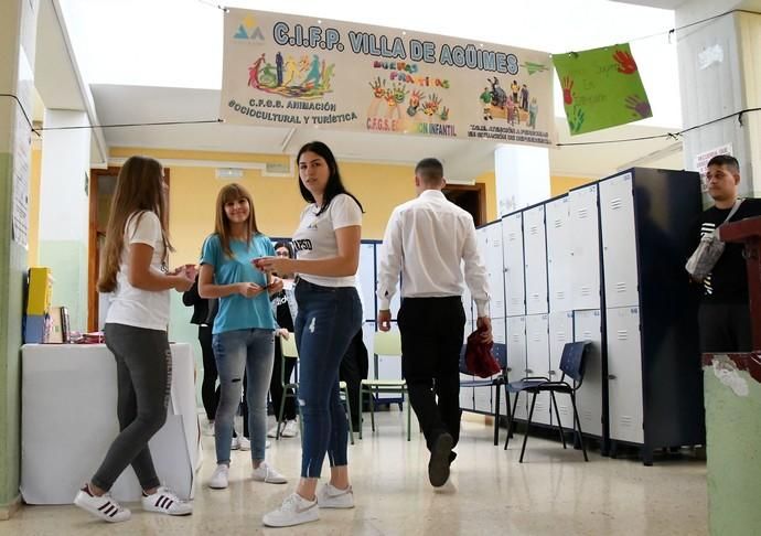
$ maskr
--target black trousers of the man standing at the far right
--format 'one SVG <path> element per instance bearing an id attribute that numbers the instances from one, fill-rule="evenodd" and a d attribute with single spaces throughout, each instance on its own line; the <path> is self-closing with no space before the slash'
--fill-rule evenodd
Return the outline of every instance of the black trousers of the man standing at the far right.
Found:
<path id="1" fill-rule="evenodd" d="M 701 303 L 700 352 L 750 352 L 753 335 L 748 303 Z"/>

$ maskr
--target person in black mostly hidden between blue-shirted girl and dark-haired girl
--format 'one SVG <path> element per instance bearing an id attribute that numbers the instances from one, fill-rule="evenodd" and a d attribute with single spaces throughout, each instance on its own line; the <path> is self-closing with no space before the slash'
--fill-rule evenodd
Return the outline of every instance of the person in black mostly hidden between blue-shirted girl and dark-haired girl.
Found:
<path id="1" fill-rule="evenodd" d="M 293 249 L 287 242 L 278 242 L 275 244 L 275 255 L 278 257 L 293 258 Z M 292 275 L 283 274 L 283 281 L 291 280 Z M 293 296 L 292 287 L 283 288 L 277 294 L 270 296 L 275 319 L 278 324 L 278 330 L 275 332 L 275 364 L 272 366 L 272 378 L 269 384 L 269 395 L 272 399 L 272 409 L 275 418 L 277 419 L 280 411 L 280 404 L 285 396 L 282 388 L 282 377 L 286 383 L 290 380 L 293 368 L 296 367 L 296 360 L 286 361 L 285 376 L 281 377 L 282 369 L 282 339 L 288 339 L 293 333 L 293 319 L 296 318 L 296 298 Z M 285 426 L 280 429 L 280 436 L 283 438 L 296 437 L 299 432 L 299 427 L 296 422 L 296 399 L 292 396 L 286 397 L 285 407 L 282 410 L 282 418 Z M 277 436 L 277 425 L 272 427 L 267 437 L 274 438 Z"/>

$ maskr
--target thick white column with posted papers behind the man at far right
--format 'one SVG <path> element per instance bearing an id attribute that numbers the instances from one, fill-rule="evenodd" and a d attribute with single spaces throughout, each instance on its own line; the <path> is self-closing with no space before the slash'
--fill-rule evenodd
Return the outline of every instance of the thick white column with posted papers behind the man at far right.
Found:
<path id="1" fill-rule="evenodd" d="M 676 10 L 682 26 L 741 8 L 736 0 L 695 0 Z M 677 32 L 682 115 L 685 127 L 701 125 L 746 108 L 761 106 L 761 15 L 732 13 Z M 740 162 L 740 195 L 761 194 L 761 112 L 726 119 L 684 135 L 684 164 L 695 169 L 695 158 L 731 144 Z M 755 171 L 755 172 L 754 172 Z"/>

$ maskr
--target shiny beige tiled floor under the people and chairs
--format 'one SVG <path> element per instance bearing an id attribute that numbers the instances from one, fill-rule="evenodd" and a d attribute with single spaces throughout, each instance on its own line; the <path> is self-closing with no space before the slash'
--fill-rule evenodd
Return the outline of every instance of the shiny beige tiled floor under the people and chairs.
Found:
<path id="1" fill-rule="evenodd" d="M 322 511 L 317 523 L 294 528 L 261 526 L 261 515 L 293 490 L 300 468 L 298 439 L 272 441 L 270 461 L 293 480 L 272 485 L 247 480 L 248 452 L 234 452 L 231 486 L 203 485 L 214 469 L 213 438 L 204 437 L 194 513 L 170 518 L 132 507 L 126 523 L 106 525 L 74 506 L 26 506 L 0 522 L 1 535 L 700 535 L 707 534 L 706 467 L 690 455 L 611 460 L 562 450 L 559 442 L 530 438 L 517 462 L 521 436 L 507 452 L 492 444 L 492 429 L 465 421 L 450 484 L 433 491 L 428 452 L 414 422 L 405 441 L 401 414 L 379 415 L 376 433 L 350 446 L 356 507 Z M 504 440 L 504 430 L 501 436 Z M 323 475 L 326 474 L 326 469 Z"/>

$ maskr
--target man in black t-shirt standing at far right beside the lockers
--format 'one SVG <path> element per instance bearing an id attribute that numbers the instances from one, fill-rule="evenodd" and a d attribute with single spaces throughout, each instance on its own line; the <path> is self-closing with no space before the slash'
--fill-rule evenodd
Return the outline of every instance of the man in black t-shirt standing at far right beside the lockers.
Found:
<path id="1" fill-rule="evenodd" d="M 693 247 L 700 237 L 720 226 L 738 201 L 740 167 L 737 159 L 727 154 L 714 157 L 706 173 L 708 195 L 714 206 L 705 211 L 695 223 Z M 738 222 L 761 216 L 761 200 L 744 199 L 729 219 Z M 748 275 L 743 245 L 727 243 L 711 272 L 703 280 L 703 297 L 698 312 L 700 328 L 700 351 L 749 352 L 752 350 Z"/>

